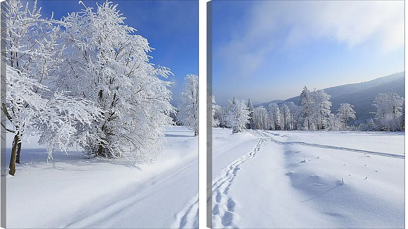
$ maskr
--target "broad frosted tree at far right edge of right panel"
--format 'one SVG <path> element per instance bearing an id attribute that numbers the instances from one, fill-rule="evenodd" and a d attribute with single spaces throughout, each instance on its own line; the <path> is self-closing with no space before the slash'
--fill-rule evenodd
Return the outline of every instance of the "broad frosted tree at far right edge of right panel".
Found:
<path id="1" fill-rule="evenodd" d="M 390 90 L 387 93 L 379 93 L 374 99 L 373 106 L 376 108 L 375 117 L 383 130 L 404 129 L 404 122 L 402 122 L 404 118 L 402 112 L 405 111 L 404 98 Z"/>

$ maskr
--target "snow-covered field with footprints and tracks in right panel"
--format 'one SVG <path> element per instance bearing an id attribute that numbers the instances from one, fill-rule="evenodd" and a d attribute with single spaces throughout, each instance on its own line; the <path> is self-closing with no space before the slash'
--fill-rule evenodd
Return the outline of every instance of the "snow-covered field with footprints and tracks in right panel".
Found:
<path id="1" fill-rule="evenodd" d="M 215 128 L 213 145 L 213 228 L 404 228 L 404 132 Z"/>

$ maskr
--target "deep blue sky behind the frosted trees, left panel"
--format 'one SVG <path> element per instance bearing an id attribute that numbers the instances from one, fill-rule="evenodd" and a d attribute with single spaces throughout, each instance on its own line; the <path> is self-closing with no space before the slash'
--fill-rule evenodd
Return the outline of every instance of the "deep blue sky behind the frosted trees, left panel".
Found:
<path id="1" fill-rule="evenodd" d="M 96 2 L 82 1 L 86 6 L 96 8 Z M 173 105 L 180 101 L 180 93 L 186 74 L 198 75 L 198 1 L 195 0 L 113 0 L 117 9 L 127 17 L 125 23 L 137 29 L 137 34 L 145 37 L 152 48 L 151 63 L 171 69 L 175 76 Z M 44 17 L 60 19 L 68 12 L 78 12 L 83 6 L 78 0 L 39 0 Z"/>

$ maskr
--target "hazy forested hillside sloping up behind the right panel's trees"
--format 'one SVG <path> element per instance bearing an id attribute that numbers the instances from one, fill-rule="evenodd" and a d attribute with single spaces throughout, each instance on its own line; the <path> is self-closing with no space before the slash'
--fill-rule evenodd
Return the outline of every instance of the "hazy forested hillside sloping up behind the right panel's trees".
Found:
<path id="1" fill-rule="evenodd" d="M 356 120 L 365 120 L 367 118 L 374 118 L 374 115 L 370 112 L 375 111 L 375 107 L 373 107 L 372 104 L 378 93 L 388 92 L 390 89 L 394 90 L 399 96 L 405 98 L 405 72 L 398 72 L 361 83 L 329 87 L 325 88 L 324 92 L 331 96 L 332 113 L 337 112 L 340 103 L 349 103 L 355 106 Z M 299 87 L 299 94 L 300 92 L 302 92 L 301 87 Z M 296 105 L 299 105 L 299 96 L 288 98 L 280 103 L 284 102 L 293 102 Z M 261 105 L 268 107 L 270 103 L 274 103 L 274 101 L 259 104 L 256 105 L 256 107 Z"/>

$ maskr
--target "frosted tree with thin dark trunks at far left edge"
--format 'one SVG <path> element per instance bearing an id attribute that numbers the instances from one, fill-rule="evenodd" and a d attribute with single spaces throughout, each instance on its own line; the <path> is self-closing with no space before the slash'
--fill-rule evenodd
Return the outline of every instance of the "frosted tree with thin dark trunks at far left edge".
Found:
<path id="1" fill-rule="evenodd" d="M 43 19 L 34 2 L 28 9 L 20 1 L 6 1 L 2 16 L 6 28 L 2 30 L 2 61 L 6 74 L 2 84 L 2 113 L 11 123 L 2 127 L 14 133 L 9 173 L 16 172 L 20 163 L 22 140 L 31 134 L 40 134 L 41 145 L 48 149 L 49 159 L 53 150 L 67 150 L 75 142 L 93 139 L 95 135 L 83 132 L 101 110 L 89 100 L 67 95 L 52 87 L 57 72 L 64 61 L 64 46 L 58 44 L 60 21 Z M 48 85 L 48 86 L 45 86 Z"/>

